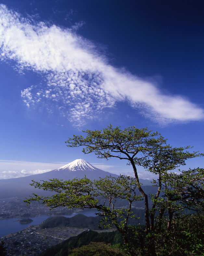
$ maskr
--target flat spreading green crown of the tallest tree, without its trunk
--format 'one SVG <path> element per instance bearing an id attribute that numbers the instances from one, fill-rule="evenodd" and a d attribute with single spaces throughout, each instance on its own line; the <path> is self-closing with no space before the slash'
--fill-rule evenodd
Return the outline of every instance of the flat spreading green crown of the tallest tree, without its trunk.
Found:
<path id="1" fill-rule="evenodd" d="M 146 150 L 145 141 L 158 133 L 152 133 L 147 128 L 137 129 L 134 126 L 121 130 L 120 127 L 113 128 L 112 125 L 100 130 L 86 130 L 87 134 L 84 138 L 82 135 L 73 135 L 65 143 L 67 147 L 85 146 L 82 152 L 88 154 L 94 152 L 98 158 L 117 157 L 119 159 L 128 159 L 121 153 L 126 152 L 132 154 L 133 157 L 141 150 Z M 123 151 L 123 152 L 121 152 Z"/>

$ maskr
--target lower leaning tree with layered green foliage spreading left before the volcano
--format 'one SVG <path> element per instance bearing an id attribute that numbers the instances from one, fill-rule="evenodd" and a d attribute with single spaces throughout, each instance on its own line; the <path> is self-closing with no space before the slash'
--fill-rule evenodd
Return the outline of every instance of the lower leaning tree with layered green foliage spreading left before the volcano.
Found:
<path id="1" fill-rule="evenodd" d="M 34 194 L 34 197 L 25 200 L 27 204 L 32 201 L 41 201 L 51 209 L 59 206 L 66 206 L 70 209 L 95 208 L 98 211 L 97 215 L 103 217 L 100 220 L 100 226 L 110 228 L 114 224 L 124 239 L 128 234 L 129 218 L 135 218 L 131 211 L 132 203 L 141 200 L 141 195 L 135 193 L 137 186 L 135 179 L 124 175 L 117 178 L 110 176 L 94 181 L 86 177 L 68 181 L 53 179 L 44 181 L 42 184 L 33 181 L 31 185 L 35 188 L 55 191 L 57 194 L 52 197 L 40 197 Z M 128 209 L 114 207 L 118 198 L 128 201 Z"/>

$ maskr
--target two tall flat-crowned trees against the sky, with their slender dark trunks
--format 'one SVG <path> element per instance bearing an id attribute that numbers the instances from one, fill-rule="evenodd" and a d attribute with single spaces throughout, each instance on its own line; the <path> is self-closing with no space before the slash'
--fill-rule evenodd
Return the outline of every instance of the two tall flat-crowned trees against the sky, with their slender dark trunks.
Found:
<path id="1" fill-rule="evenodd" d="M 83 153 L 95 153 L 98 158 L 109 159 L 116 157 L 127 160 L 127 164 L 132 165 L 137 188 L 145 200 L 145 219 L 146 232 L 154 230 L 155 213 L 159 211 L 160 219 L 163 217 L 165 209 L 158 209 L 161 202 L 159 195 L 162 189 L 162 182 L 169 171 L 185 165 L 185 161 L 194 157 L 201 157 L 203 154 L 198 152 L 186 151 L 190 146 L 172 147 L 167 145 L 167 139 L 164 139 L 157 132 L 147 130 L 147 128 L 137 129 L 131 126 L 121 130 L 120 127 L 113 128 L 112 125 L 101 130 L 86 130 L 86 137 L 82 135 L 73 135 L 66 143 L 68 147 L 83 146 Z M 149 212 L 148 195 L 142 189 L 139 183 L 136 166 L 143 166 L 146 171 L 159 175 L 155 195 L 151 196 L 154 202 Z M 170 202 L 171 200 L 169 200 Z M 174 206 L 176 203 L 174 204 Z M 170 209 L 170 207 L 169 207 Z M 170 223 L 172 220 L 172 211 L 170 212 Z M 160 224 L 159 224 L 160 225 Z M 159 227 L 160 228 L 160 227 Z"/>

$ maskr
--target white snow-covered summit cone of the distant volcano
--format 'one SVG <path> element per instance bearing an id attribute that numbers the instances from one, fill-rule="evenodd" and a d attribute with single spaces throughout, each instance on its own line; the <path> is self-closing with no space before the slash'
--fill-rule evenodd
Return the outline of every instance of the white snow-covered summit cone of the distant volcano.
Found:
<path id="1" fill-rule="evenodd" d="M 69 172 L 75 172 L 75 171 L 97 171 L 98 168 L 91 165 L 89 162 L 83 160 L 83 159 L 76 159 L 71 163 L 68 163 L 58 169 L 56 171 L 66 170 Z"/>

